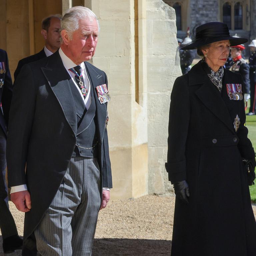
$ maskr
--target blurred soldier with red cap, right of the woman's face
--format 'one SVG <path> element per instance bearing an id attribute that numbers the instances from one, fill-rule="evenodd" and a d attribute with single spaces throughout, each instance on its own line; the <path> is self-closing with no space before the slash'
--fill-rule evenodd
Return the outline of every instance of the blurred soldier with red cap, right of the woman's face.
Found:
<path id="1" fill-rule="evenodd" d="M 250 99 L 250 67 L 245 59 L 242 58 L 244 45 L 236 45 L 231 47 L 231 57 L 233 60 L 231 71 L 241 74 L 244 81 L 244 104 Z"/>

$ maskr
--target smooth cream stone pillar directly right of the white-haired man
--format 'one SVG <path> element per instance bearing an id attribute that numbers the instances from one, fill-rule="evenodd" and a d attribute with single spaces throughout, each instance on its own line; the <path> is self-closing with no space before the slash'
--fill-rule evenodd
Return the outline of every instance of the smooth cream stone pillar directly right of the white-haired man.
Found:
<path id="1" fill-rule="evenodd" d="M 99 18 L 101 31 L 92 63 L 106 72 L 111 95 L 108 104 L 111 197 L 142 196 L 148 193 L 147 101 L 142 99 L 140 105 L 135 100 L 138 56 L 135 56 L 134 1 L 86 0 L 85 6 L 91 7 Z"/>

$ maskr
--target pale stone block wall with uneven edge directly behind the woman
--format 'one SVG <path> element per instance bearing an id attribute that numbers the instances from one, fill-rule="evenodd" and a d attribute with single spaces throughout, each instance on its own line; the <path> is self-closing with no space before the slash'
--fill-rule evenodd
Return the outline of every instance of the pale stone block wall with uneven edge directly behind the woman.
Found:
<path id="1" fill-rule="evenodd" d="M 170 95 L 176 77 L 176 16 L 162 0 L 147 0 L 147 93 L 149 193 L 172 191 L 165 170 Z"/>

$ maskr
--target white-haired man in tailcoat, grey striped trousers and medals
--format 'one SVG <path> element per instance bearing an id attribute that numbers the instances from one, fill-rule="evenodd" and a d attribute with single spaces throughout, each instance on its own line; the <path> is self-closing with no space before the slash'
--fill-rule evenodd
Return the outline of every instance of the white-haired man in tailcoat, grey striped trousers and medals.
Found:
<path id="1" fill-rule="evenodd" d="M 14 87 L 11 200 L 26 212 L 24 246 L 36 240 L 41 255 L 91 255 L 98 211 L 109 200 L 107 77 L 87 62 L 98 34 L 90 9 L 69 9 L 59 51 L 25 65 Z"/>

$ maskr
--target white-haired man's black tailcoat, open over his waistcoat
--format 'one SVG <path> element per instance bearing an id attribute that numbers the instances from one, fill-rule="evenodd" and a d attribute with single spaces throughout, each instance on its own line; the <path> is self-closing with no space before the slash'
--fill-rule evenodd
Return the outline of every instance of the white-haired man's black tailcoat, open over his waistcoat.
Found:
<path id="1" fill-rule="evenodd" d="M 85 62 L 96 101 L 98 163 L 101 186 L 112 188 L 106 129 L 107 103 L 100 104 L 96 87 L 107 84 L 100 69 Z M 9 187 L 27 184 L 32 209 L 25 213 L 24 244 L 49 208 L 75 148 L 77 113 L 59 51 L 24 65 L 18 75 L 10 109 L 7 139 Z M 25 174 L 26 166 L 26 174 Z"/>

